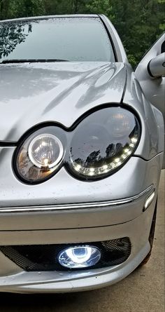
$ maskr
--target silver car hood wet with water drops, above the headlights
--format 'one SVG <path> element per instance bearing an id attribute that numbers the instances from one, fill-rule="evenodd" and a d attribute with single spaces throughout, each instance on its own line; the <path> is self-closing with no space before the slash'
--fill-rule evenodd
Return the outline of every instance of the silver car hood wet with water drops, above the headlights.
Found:
<path id="1" fill-rule="evenodd" d="M 120 103 L 123 63 L 56 62 L 0 66 L 0 140 L 17 141 L 45 121 L 70 127 L 85 111 Z"/>

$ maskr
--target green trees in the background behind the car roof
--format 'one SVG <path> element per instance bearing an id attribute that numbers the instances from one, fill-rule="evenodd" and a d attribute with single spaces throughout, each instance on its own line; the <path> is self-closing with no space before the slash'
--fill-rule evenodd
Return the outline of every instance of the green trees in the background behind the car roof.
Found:
<path id="1" fill-rule="evenodd" d="M 131 65 L 165 30 L 165 0 L 0 0 L 0 19 L 73 13 L 105 14 L 115 25 Z"/>

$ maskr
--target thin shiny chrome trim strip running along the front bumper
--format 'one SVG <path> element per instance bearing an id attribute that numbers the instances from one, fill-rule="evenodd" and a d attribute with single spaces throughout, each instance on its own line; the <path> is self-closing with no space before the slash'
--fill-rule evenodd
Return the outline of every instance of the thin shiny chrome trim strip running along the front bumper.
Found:
<path id="1" fill-rule="evenodd" d="M 101 202 L 92 202 L 92 203 L 74 203 L 74 204 L 61 204 L 61 205 L 41 205 L 41 206 L 29 206 L 29 207 L 10 207 L 10 208 L 0 208 L 1 213 L 12 213 L 12 212 L 45 212 L 45 211 L 55 211 L 55 210 L 71 210 L 71 209 L 85 209 L 85 208 L 101 208 L 109 207 L 113 205 L 123 205 L 125 203 L 132 203 L 133 201 L 138 200 L 143 195 L 155 191 L 154 185 L 150 185 L 147 189 L 141 193 L 119 200 L 113 201 L 101 201 Z"/>

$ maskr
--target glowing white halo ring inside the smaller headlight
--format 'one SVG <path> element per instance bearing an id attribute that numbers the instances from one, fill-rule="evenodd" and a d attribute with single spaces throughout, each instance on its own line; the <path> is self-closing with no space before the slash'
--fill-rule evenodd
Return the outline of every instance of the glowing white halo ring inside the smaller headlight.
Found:
<path id="1" fill-rule="evenodd" d="M 36 161 L 36 159 L 34 158 L 34 156 L 32 154 L 34 143 L 37 140 L 41 140 L 44 137 L 52 138 L 55 141 L 55 143 L 58 144 L 58 146 L 59 146 L 59 156 L 57 157 L 57 159 L 53 163 L 50 163 L 48 165 L 41 165 L 38 161 Z M 43 133 L 41 135 L 37 135 L 36 137 L 34 137 L 34 139 L 30 142 L 29 147 L 28 147 L 28 155 L 29 155 L 31 163 L 36 165 L 36 167 L 38 167 L 38 168 L 50 168 L 51 169 L 51 168 L 54 168 L 56 165 L 58 165 L 60 163 L 60 161 L 62 160 L 63 155 L 64 155 L 64 147 L 62 145 L 62 142 L 55 135 Z"/>

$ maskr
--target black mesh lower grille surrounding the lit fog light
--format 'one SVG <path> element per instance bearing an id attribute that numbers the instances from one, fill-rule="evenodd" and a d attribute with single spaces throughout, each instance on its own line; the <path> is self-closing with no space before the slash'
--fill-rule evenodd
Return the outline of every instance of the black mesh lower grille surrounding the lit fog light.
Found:
<path id="1" fill-rule="evenodd" d="M 127 237 L 96 243 L 0 246 L 0 250 L 24 271 L 70 271 L 59 264 L 57 256 L 66 247 L 80 245 L 96 246 L 101 250 L 101 259 L 90 269 L 121 264 L 131 253 L 131 243 Z"/>

